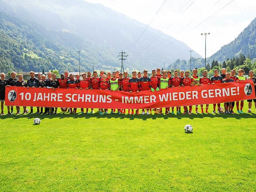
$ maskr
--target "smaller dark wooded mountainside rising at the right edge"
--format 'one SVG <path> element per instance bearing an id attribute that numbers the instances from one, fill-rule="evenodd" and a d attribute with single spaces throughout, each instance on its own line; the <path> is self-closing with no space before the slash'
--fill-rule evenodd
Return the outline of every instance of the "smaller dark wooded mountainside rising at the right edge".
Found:
<path id="1" fill-rule="evenodd" d="M 235 40 L 227 45 L 222 46 L 218 52 L 210 57 L 210 60 L 223 62 L 240 54 L 249 56 L 251 59 L 256 58 L 256 18 L 252 20 Z"/>

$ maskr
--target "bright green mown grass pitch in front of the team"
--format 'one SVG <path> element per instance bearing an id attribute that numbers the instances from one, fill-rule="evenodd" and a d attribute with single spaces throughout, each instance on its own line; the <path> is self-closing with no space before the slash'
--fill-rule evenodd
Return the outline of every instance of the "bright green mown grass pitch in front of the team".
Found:
<path id="1" fill-rule="evenodd" d="M 253 112 L 0 116 L 0 191 L 256 191 Z"/>

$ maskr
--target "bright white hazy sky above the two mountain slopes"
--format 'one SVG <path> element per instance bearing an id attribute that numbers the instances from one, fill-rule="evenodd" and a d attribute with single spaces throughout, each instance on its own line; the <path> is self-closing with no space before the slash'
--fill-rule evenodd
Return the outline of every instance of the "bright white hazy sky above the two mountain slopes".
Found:
<path id="1" fill-rule="evenodd" d="M 256 0 L 86 1 L 103 4 L 144 24 L 151 22 L 151 27 L 184 42 L 203 58 L 205 36 L 201 33 L 210 32 L 206 37 L 208 57 L 234 40 L 256 16 Z"/>

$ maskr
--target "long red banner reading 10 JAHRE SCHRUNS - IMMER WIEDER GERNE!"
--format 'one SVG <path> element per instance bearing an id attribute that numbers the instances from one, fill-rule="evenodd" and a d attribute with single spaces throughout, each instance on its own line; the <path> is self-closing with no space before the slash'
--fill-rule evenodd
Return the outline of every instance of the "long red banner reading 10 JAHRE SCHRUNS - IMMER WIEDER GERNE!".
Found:
<path id="1" fill-rule="evenodd" d="M 175 87 L 154 91 L 112 92 L 110 90 L 6 87 L 7 106 L 70 108 L 162 108 L 254 99 L 252 80 L 215 85 Z"/>

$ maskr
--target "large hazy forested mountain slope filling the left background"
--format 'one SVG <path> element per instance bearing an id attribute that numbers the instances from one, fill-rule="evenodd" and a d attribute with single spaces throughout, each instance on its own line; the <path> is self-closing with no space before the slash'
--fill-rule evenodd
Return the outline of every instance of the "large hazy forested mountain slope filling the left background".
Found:
<path id="1" fill-rule="evenodd" d="M 151 70 L 164 61 L 189 59 L 192 49 L 167 34 L 144 50 L 160 34 L 148 27 L 137 41 L 145 28 L 124 14 L 84 0 L 0 0 L 0 70 L 78 71 L 78 50 L 81 71 L 92 70 L 93 65 L 105 70 L 120 67 L 121 50 L 129 55 L 125 70 Z"/>

